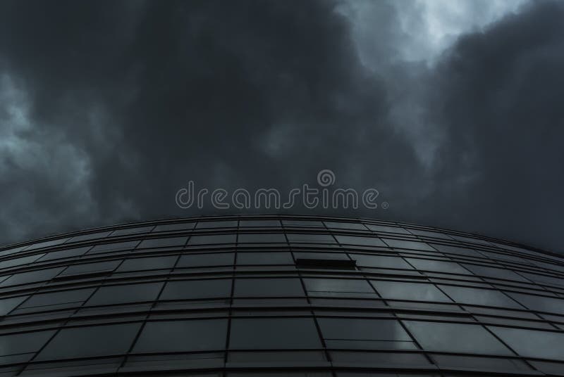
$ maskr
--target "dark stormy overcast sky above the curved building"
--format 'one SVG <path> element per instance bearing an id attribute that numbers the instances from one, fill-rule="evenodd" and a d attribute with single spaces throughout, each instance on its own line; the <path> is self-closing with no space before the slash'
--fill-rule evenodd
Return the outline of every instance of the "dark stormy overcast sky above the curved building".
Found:
<path id="1" fill-rule="evenodd" d="M 3 0 L 0 243 L 329 169 L 389 208 L 285 212 L 560 251 L 563 68 L 563 1 Z"/>

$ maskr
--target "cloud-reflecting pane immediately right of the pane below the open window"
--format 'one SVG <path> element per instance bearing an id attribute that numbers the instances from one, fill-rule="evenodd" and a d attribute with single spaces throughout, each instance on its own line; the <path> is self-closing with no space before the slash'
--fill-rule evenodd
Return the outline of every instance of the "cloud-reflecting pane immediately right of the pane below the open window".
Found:
<path id="1" fill-rule="evenodd" d="M 429 283 L 408 283 L 406 281 L 372 280 L 376 291 L 383 298 L 394 300 L 451 302 L 436 286 Z"/>

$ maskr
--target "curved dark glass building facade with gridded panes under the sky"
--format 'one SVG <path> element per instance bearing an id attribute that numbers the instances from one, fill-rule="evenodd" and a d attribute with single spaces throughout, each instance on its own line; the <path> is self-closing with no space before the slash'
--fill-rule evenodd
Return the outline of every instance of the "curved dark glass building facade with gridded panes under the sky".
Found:
<path id="1" fill-rule="evenodd" d="M 91 229 L 0 249 L 0 376 L 564 376 L 563 276 L 369 219 Z"/>

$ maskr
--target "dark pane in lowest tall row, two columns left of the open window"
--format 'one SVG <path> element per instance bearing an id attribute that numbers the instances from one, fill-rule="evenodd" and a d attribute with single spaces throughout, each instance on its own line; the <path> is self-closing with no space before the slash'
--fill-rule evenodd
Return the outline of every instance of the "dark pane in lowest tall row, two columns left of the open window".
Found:
<path id="1" fill-rule="evenodd" d="M 133 352 L 188 352 L 223 350 L 227 319 L 147 322 Z"/>

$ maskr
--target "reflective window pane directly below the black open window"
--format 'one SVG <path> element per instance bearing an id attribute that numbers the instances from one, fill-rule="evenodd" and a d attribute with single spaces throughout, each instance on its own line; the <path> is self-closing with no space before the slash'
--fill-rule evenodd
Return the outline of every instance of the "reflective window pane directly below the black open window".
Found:
<path id="1" fill-rule="evenodd" d="M 376 298 L 374 289 L 366 280 L 353 279 L 304 279 L 308 295 L 339 295 Z"/>

